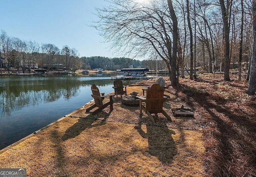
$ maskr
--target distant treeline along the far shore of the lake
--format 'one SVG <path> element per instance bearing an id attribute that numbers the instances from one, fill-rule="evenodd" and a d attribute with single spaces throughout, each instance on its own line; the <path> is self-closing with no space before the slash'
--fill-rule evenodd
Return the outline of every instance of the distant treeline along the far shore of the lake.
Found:
<path id="1" fill-rule="evenodd" d="M 164 62 L 155 60 L 132 60 L 130 58 L 107 58 L 102 56 L 78 57 L 78 50 L 65 45 L 58 48 L 54 44 L 39 44 L 36 41 L 20 40 L 10 37 L 4 30 L 0 30 L 0 73 L 2 68 L 9 72 L 13 69 L 27 72 L 32 69 L 51 70 L 88 70 L 102 68 L 104 70 L 117 70 L 141 66 L 155 70 L 166 68 Z M 15 71 L 15 70 L 14 70 Z"/>

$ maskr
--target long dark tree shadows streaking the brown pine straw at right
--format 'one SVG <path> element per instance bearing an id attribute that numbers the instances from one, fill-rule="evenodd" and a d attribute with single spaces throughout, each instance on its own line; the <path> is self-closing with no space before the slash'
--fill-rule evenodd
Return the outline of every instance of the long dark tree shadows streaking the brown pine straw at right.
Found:
<path id="1" fill-rule="evenodd" d="M 209 125 L 204 130 L 204 137 L 207 139 L 206 156 L 207 159 L 213 159 L 206 159 L 208 173 L 225 177 L 255 174 L 255 121 L 229 107 L 227 100 L 221 95 L 211 95 L 186 85 L 175 89 L 177 95 L 179 92 L 186 94 L 183 99 L 188 104 L 192 102 L 190 105 L 193 108 L 196 105 L 204 107 L 202 114 L 205 114 Z M 252 117 L 255 113 L 250 115 Z"/>

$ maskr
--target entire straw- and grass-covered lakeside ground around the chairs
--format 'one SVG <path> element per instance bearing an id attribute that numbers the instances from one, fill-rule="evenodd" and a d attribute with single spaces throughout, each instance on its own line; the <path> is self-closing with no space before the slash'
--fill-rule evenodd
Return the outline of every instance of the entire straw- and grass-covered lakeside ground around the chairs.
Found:
<path id="1" fill-rule="evenodd" d="M 128 93 L 155 80 L 132 84 Z M 256 97 L 247 83 L 223 76 L 166 80 L 170 98 L 156 123 L 138 107 L 114 98 L 114 110 L 85 113 L 86 105 L 0 153 L 0 168 L 26 168 L 28 176 L 255 176 Z M 174 117 L 171 108 L 194 111 Z M 92 110 L 93 111 L 93 110 Z"/>

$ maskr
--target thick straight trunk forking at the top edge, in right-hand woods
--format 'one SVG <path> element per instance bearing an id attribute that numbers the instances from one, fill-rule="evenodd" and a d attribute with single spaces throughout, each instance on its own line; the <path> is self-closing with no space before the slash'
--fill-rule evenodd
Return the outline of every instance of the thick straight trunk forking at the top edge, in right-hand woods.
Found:
<path id="1" fill-rule="evenodd" d="M 224 39 L 225 39 L 224 80 L 225 81 L 230 81 L 230 77 L 229 77 L 229 69 L 230 69 L 229 33 L 230 33 L 230 26 L 229 26 L 229 22 L 228 22 L 230 4 L 229 4 L 229 1 L 228 1 L 227 2 L 228 5 L 227 5 L 227 8 L 226 8 L 224 0 L 219 0 L 219 1 L 220 1 L 221 12 L 222 12 L 222 20 L 223 20 L 223 27 L 224 27 Z"/>

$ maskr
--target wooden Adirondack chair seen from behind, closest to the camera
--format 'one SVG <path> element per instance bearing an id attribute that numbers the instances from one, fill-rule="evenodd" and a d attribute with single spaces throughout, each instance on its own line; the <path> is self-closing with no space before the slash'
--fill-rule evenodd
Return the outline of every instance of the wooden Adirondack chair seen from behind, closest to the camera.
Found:
<path id="1" fill-rule="evenodd" d="M 164 88 L 159 84 L 153 84 L 151 88 L 146 90 L 146 98 L 140 97 L 140 115 L 142 115 L 142 109 L 146 112 L 148 117 L 155 122 L 152 113 L 162 113 L 168 120 L 172 121 L 171 117 L 163 110 L 163 103 L 167 99 L 164 97 Z"/>

